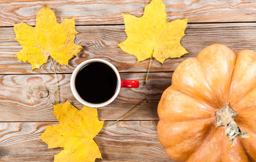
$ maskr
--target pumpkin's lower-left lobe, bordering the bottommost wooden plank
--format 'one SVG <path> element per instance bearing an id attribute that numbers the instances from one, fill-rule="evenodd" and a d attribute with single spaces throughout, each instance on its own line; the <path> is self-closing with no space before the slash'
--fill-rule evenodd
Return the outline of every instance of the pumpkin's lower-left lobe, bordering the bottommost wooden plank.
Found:
<path id="1" fill-rule="evenodd" d="M 164 121 L 160 119 L 160 125 L 158 125 L 158 137 L 159 140 L 164 147 L 164 150 L 168 155 L 172 157 L 172 159 L 176 161 L 185 161 L 187 156 L 196 152 L 198 147 L 201 146 L 204 139 L 207 137 L 208 132 L 211 132 L 214 128 L 217 129 L 214 125 L 214 119 L 212 120 L 204 120 L 204 121 L 191 121 L 191 126 L 196 130 L 192 131 L 191 134 L 186 133 L 191 129 L 191 126 L 186 124 L 187 122 L 181 123 L 170 123 L 169 121 Z M 168 124 L 168 131 L 164 131 Z M 196 126 L 194 125 L 196 124 Z M 173 131 L 176 130 L 177 131 Z M 163 132 L 164 131 L 164 132 Z M 179 132 L 179 133 L 178 133 Z M 163 136 L 163 134 L 168 134 L 168 136 Z M 182 133 L 182 134 L 180 134 Z M 181 138 L 181 136 L 183 136 Z M 168 140 L 173 140 L 172 143 L 168 143 Z M 193 145 L 187 149 L 182 149 L 182 145 L 192 144 L 190 141 L 193 140 Z"/>

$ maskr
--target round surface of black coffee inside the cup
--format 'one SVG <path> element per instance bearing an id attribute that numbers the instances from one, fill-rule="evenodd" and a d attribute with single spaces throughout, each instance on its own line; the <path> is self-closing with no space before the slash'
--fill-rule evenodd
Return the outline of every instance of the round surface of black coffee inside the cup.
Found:
<path id="1" fill-rule="evenodd" d="M 105 63 L 88 63 L 77 73 L 75 88 L 84 101 L 104 103 L 115 94 L 117 76 Z"/>

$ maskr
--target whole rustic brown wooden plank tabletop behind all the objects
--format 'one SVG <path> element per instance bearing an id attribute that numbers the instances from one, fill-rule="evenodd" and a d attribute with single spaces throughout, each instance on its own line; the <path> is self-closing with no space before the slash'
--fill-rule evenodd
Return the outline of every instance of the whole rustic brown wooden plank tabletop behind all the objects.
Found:
<path id="1" fill-rule="evenodd" d="M 162 65 L 149 60 L 136 63 L 136 57 L 118 46 L 126 39 L 122 12 L 142 16 L 150 0 L 0 0 L 0 161 L 54 161 L 61 148 L 48 149 L 38 137 L 45 126 L 58 124 L 52 114 L 56 91 L 50 61 L 31 72 L 29 63 L 14 55 L 22 49 L 14 40 L 13 23 L 35 26 L 35 13 L 43 5 L 54 10 L 58 22 L 73 18 L 75 43 L 84 47 L 69 61 L 55 63 L 59 81 L 59 100 L 82 105 L 71 94 L 69 80 L 74 68 L 91 58 L 111 61 L 123 79 L 139 80 L 139 88 L 122 89 L 107 107 L 98 108 L 100 120 L 110 124 L 125 113 L 149 102 L 124 120 L 100 131 L 95 137 L 103 161 L 171 161 L 156 134 L 157 107 L 162 92 L 171 84 L 172 72 L 184 59 L 196 57 L 206 46 L 221 43 L 234 51 L 256 47 L 256 1 L 246 0 L 164 0 L 168 20 L 189 18 L 181 44 L 189 53 L 167 59 Z M 100 161 L 100 160 L 98 160 Z"/>

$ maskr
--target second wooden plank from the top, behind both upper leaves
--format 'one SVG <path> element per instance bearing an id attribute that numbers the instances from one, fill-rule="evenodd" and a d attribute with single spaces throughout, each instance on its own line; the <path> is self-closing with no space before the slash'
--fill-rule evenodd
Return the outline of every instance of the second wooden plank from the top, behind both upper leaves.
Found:
<path id="1" fill-rule="evenodd" d="M 77 26 L 79 34 L 75 43 L 84 50 L 69 61 L 69 67 L 55 63 L 58 73 L 71 73 L 75 67 L 91 58 L 110 61 L 120 72 L 147 72 L 149 59 L 136 63 L 136 57 L 124 53 L 118 43 L 126 39 L 124 26 Z M 0 28 L 0 74 L 38 74 L 53 73 L 52 63 L 48 60 L 39 70 L 31 72 L 31 65 L 17 61 L 14 55 L 22 49 L 14 40 L 13 28 Z M 186 36 L 181 44 L 189 53 L 177 59 L 166 59 L 164 64 L 153 59 L 150 71 L 170 72 L 184 59 L 196 57 L 204 47 L 221 43 L 233 50 L 253 49 L 256 44 L 255 23 L 232 24 L 188 24 Z"/>

